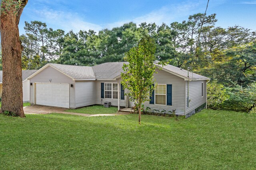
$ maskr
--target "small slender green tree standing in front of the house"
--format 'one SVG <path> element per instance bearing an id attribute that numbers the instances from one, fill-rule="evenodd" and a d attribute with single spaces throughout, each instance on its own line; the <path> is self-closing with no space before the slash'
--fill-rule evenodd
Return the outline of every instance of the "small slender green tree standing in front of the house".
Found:
<path id="1" fill-rule="evenodd" d="M 126 53 L 129 64 L 124 64 L 124 73 L 121 73 L 121 83 L 129 91 L 126 95 L 130 96 L 130 99 L 138 107 L 139 124 L 142 103 L 149 101 L 149 97 L 154 90 L 152 84 L 155 82 L 153 74 L 156 72 L 156 65 L 154 65 L 155 52 L 154 40 L 150 37 L 142 38 L 138 47 L 133 47 Z"/>

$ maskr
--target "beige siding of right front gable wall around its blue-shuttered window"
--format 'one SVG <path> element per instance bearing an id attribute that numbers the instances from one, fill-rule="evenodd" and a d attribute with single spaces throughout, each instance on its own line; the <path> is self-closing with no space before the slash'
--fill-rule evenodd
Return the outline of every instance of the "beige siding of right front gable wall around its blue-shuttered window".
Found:
<path id="1" fill-rule="evenodd" d="M 184 79 L 168 73 L 164 70 L 156 70 L 158 73 L 154 74 L 154 78 L 158 84 L 172 84 L 172 106 L 169 105 L 156 105 L 145 102 L 144 106 L 151 109 L 158 109 L 172 111 L 176 109 L 176 114 L 184 115 Z"/>

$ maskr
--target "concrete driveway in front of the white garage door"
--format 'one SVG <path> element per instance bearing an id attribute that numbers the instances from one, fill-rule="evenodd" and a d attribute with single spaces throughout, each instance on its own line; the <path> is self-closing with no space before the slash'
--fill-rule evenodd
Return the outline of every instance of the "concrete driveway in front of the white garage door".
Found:
<path id="1" fill-rule="evenodd" d="M 23 107 L 24 113 L 38 113 L 38 114 L 48 114 L 48 113 L 59 113 L 66 109 L 58 108 L 58 107 L 47 107 L 47 106 L 26 106 Z"/>

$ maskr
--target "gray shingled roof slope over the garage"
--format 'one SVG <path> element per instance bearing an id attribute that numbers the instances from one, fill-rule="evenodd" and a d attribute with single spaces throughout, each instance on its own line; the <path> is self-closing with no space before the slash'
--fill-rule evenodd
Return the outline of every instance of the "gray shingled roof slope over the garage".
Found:
<path id="1" fill-rule="evenodd" d="M 92 70 L 92 67 L 90 66 L 75 66 L 75 65 L 53 64 L 53 63 L 49 63 L 49 64 L 76 80 L 77 79 L 95 79 L 94 72 Z"/>

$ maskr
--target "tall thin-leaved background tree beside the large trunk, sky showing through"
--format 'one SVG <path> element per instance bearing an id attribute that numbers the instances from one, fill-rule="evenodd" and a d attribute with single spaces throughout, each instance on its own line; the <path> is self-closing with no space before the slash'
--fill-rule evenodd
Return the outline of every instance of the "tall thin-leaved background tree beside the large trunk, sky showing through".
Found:
<path id="1" fill-rule="evenodd" d="M 53 30 L 41 21 L 25 21 L 24 29 L 26 34 L 20 36 L 24 46 L 23 69 L 39 69 L 62 55 L 65 35 L 62 29 Z"/>

